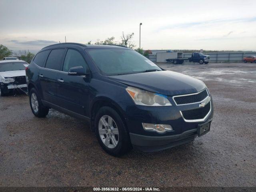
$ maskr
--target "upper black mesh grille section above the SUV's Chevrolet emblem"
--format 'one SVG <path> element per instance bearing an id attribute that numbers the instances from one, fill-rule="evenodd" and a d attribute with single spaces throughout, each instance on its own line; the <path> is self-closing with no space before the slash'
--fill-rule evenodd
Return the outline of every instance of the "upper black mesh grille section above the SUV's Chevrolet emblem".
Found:
<path id="1" fill-rule="evenodd" d="M 198 94 L 174 97 L 174 101 L 177 105 L 196 103 L 204 100 L 208 96 L 206 89 Z"/>

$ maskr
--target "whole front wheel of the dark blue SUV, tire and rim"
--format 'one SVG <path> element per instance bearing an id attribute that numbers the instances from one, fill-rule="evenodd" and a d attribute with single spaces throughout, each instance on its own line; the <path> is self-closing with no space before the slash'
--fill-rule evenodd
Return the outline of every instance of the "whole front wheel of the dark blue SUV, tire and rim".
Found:
<path id="1" fill-rule="evenodd" d="M 112 108 L 100 108 L 95 117 L 95 132 L 100 146 L 112 156 L 121 156 L 132 149 L 129 132 Z"/>

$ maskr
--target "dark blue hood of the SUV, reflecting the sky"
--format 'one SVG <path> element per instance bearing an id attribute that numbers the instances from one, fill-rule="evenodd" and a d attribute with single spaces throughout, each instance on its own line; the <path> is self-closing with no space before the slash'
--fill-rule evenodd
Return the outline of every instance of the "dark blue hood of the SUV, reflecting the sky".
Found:
<path id="1" fill-rule="evenodd" d="M 202 81 L 173 71 L 156 71 L 109 76 L 110 79 L 167 96 L 196 93 L 205 88 Z"/>

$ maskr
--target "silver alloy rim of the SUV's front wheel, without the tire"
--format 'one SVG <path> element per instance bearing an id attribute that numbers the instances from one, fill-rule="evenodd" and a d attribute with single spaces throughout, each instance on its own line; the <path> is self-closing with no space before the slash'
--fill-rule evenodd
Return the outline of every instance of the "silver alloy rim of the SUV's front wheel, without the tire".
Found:
<path id="1" fill-rule="evenodd" d="M 119 132 L 116 122 L 109 115 L 100 118 L 98 124 L 100 139 L 108 148 L 115 148 L 119 141 Z"/>

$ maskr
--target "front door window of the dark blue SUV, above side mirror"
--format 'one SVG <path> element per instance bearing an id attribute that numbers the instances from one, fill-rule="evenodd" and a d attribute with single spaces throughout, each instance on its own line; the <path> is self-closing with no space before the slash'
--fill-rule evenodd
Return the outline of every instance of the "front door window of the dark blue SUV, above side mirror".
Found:
<path id="1" fill-rule="evenodd" d="M 83 66 L 84 72 L 89 72 L 83 56 L 78 51 L 69 49 L 64 60 L 63 71 L 68 72 L 70 68 L 77 66 Z"/>

